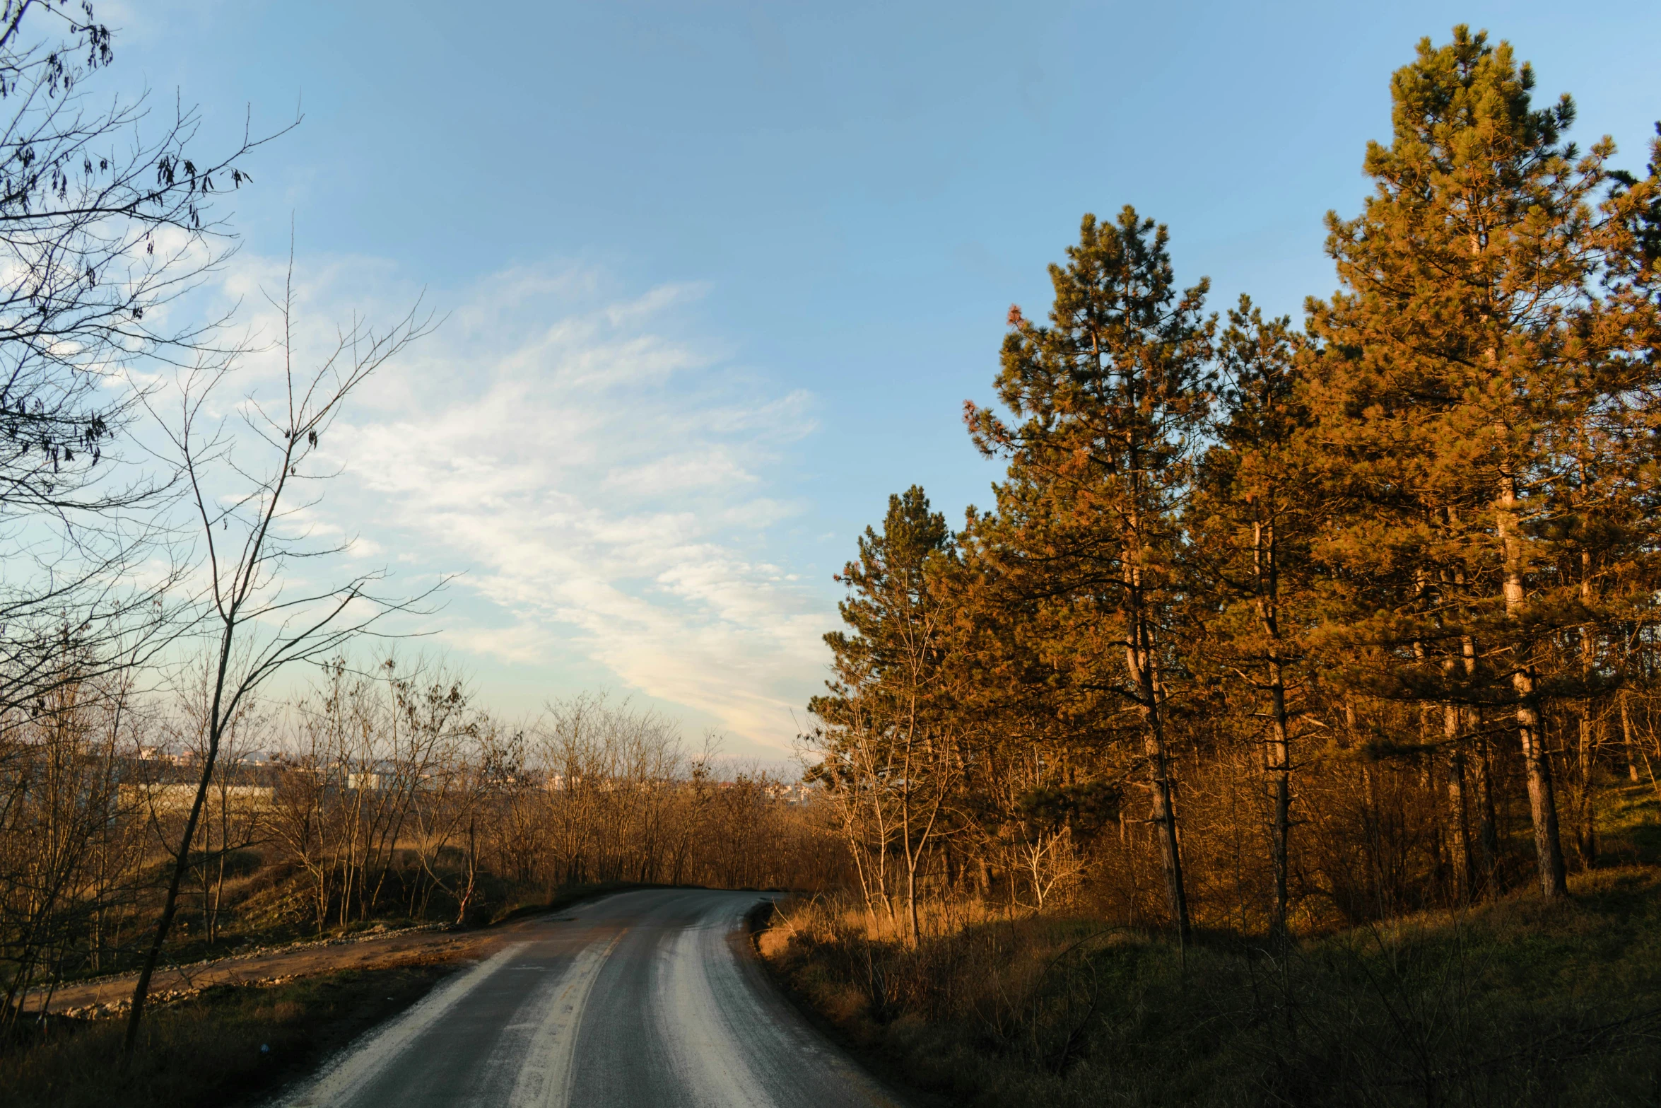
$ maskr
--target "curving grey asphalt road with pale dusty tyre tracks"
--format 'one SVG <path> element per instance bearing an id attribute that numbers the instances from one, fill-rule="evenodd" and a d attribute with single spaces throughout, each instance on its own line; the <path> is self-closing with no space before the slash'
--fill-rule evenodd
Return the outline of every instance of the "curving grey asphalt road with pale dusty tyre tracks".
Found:
<path id="1" fill-rule="evenodd" d="M 742 929 L 761 899 L 623 892 L 523 927 L 277 1105 L 894 1105 L 766 978 Z"/>

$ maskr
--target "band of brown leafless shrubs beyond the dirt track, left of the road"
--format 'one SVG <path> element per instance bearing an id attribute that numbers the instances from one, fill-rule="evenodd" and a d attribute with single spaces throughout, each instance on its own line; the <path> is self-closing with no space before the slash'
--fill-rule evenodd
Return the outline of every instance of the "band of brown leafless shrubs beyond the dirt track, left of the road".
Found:
<path id="1" fill-rule="evenodd" d="M 47 1038 L 65 1027 L 42 1017 L 63 1010 L 55 993 L 141 965 L 199 772 L 189 741 L 135 748 L 81 731 L 83 719 L 58 711 L 0 746 L 20 779 L 37 774 L 0 822 L 5 1025 L 50 1023 Z M 337 664 L 282 721 L 257 733 L 279 757 L 243 756 L 251 723 L 228 733 L 163 968 L 482 927 L 623 887 L 829 887 L 845 865 L 799 787 L 689 756 L 668 723 L 603 698 L 550 704 L 503 733 L 457 684 Z M 40 874 L 50 884 L 28 880 Z M 13 1065 L 0 1045 L 0 1078 Z"/>

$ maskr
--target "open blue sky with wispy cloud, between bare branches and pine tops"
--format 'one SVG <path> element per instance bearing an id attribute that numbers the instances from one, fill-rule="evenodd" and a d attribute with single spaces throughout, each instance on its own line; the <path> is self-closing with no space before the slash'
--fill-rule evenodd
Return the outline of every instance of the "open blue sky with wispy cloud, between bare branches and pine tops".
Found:
<path id="1" fill-rule="evenodd" d="M 1297 314 L 1422 35 L 1512 40 L 1624 164 L 1661 118 L 1648 3 L 98 13 L 111 83 L 201 105 L 204 146 L 304 110 L 228 208 L 223 294 L 269 286 L 292 219 L 312 324 L 422 289 L 448 316 L 337 435 L 331 525 L 463 573 L 437 643 L 505 713 L 608 686 L 736 754 L 789 746 L 887 495 L 988 500 L 960 405 L 1081 213 L 1131 203 L 1214 307 Z"/>

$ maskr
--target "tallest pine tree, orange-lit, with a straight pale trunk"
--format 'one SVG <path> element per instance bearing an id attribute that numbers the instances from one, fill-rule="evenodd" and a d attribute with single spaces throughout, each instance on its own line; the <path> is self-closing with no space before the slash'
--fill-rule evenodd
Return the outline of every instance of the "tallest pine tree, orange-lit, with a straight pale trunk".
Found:
<path id="1" fill-rule="evenodd" d="M 1540 887 L 1560 895 L 1540 650 L 1575 616 L 1540 573 L 1536 528 L 1565 480 L 1553 429 L 1585 405 L 1596 359 L 1576 311 L 1600 267 L 1590 203 L 1610 146 L 1581 158 L 1561 143 L 1573 103 L 1536 110 L 1533 83 L 1507 43 L 1465 27 L 1418 45 L 1392 78 L 1394 140 L 1367 148 L 1374 194 L 1359 218 L 1327 218 L 1342 289 L 1309 312 L 1322 434 L 1355 503 L 1387 508 L 1335 553 L 1375 566 L 1369 545 L 1390 550 L 1415 576 L 1414 681 L 1432 689 L 1443 671 L 1428 648 L 1475 640 L 1508 684 Z"/>

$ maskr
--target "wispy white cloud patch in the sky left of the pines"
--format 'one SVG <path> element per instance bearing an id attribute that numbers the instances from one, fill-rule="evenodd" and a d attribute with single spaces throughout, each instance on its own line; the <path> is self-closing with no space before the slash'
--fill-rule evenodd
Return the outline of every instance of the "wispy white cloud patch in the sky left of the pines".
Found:
<path id="1" fill-rule="evenodd" d="M 395 292 L 374 262 L 302 269 L 314 326 Z M 332 429 L 345 478 L 317 512 L 400 575 L 460 571 L 443 640 L 480 666 L 576 651 L 784 748 L 830 618 L 767 553 L 802 512 L 779 472 L 814 399 L 691 337 L 701 296 L 608 297 L 586 271 L 475 286 Z"/>

